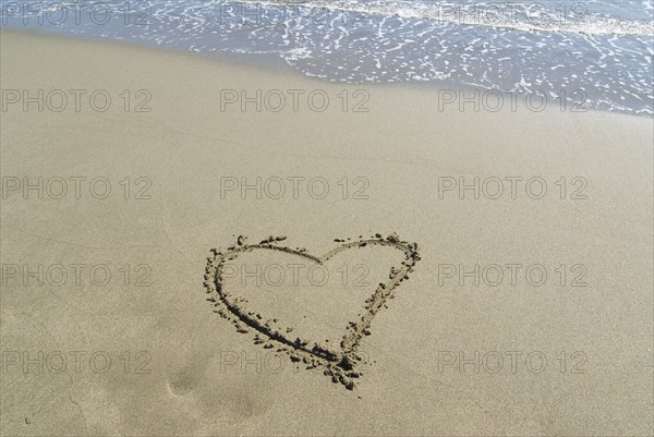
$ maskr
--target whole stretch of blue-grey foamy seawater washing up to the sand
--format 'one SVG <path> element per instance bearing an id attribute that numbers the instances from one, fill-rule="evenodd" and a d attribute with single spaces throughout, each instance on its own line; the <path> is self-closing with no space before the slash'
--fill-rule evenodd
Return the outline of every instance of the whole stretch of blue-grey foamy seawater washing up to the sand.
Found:
<path id="1" fill-rule="evenodd" d="M 569 23 L 547 19 L 561 13 L 565 3 L 558 0 L 538 23 L 533 15 L 521 17 L 516 4 L 532 4 L 524 2 L 138 1 L 129 16 L 104 25 L 86 21 L 39 25 L 39 31 L 204 54 L 276 56 L 329 82 L 436 82 L 554 98 L 576 95 L 588 108 L 652 114 L 654 33 L 652 23 L 633 20 L 651 15 L 649 1 L 632 9 L 591 1 L 574 10 L 580 3 L 569 3 L 566 13 L 574 17 Z M 117 11 L 126 4 L 104 3 Z M 452 4 L 458 11 L 444 9 Z M 485 16 L 480 8 L 498 4 L 512 4 L 513 12 L 505 21 L 496 13 L 495 23 L 480 23 Z M 9 22 L 24 25 L 15 14 Z"/>

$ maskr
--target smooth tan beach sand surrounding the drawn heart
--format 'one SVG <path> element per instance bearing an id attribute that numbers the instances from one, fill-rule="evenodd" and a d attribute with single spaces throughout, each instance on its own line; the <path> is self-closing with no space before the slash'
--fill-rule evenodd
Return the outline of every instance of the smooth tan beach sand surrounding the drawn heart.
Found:
<path id="1" fill-rule="evenodd" d="M 60 94 L 50 94 L 39 112 L 3 92 L 2 435 L 652 434 L 651 119 L 439 111 L 432 86 L 330 84 L 7 31 L 0 48 L 3 90 L 69 96 L 56 112 Z M 87 92 L 80 111 L 71 89 Z M 221 108 L 221 90 L 234 96 L 225 89 L 304 94 L 296 111 L 287 99 L 257 112 Z M 96 109 L 94 90 L 105 90 Z M 315 105 L 329 97 L 325 111 L 308 106 L 313 90 Z M 104 95 L 112 102 L 100 112 Z M 368 111 L 354 112 L 358 102 Z M 25 177 L 43 187 L 26 190 Z M 481 178 L 479 199 L 444 191 L 461 177 Z M 261 178 L 261 198 L 241 193 L 242 178 Z M 491 198 L 493 178 L 522 178 L 516 198 L 508 189 Z M 543 181 L 547 193 L 532 198 Z M 207 301 L 210 250 L 239 235 L 254 245 L 284 235 L 272 244 L 319 258 L 343 244 L 335 239 L 393 232 L 421 259 L 362 336 L 353 390 L 278 343 L 255 344 L 256 329 L 238 332 Z M 308 319 L 301 339 L 320 326 L 346 333 L 343 320 L 356 321 L 389 266 L 401 266 L 371 246 L 332 258 L 352 277 L 370 267 L 365 291 L 278 288 L 256 311 Z M 268 252 L 251 262 L 308 259 Z M 513 283 L 507 265 L 522 266 Z M 238 277 L 225 286 L 252 293 Z"/>

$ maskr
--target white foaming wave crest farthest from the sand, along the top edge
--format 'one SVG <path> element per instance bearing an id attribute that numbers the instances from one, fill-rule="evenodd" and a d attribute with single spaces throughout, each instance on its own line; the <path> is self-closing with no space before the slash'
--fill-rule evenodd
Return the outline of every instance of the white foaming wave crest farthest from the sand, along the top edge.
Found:
<path id="1" fill-rule="evenodd" d="M 12 4 L 17 2 L 0 1 L 0 4 Z M 113 4 L 124 5 L 124 1 L 26 1 L 21 3 L 21 13 L 27 16 L 41 13 L 43 10 L 56 12 L 62 8 L 77 8 L 81 4 Z M 295 9 L 298 15 L 319 16 L 325 11 L 329 13 L 341 13 L 342 16 L 352 14 L 366 14 L 378 16 L 399 16 L 403 19 L 426 20 L 436 24 L 459 24 L 470 26 L 486 26 L 501 29 L 513 29 L 520 32 L 567 32 L 589 35 L 634 35 L 653 36 L 654 17 L 652 15 L 652 3 L 644 0 L 639 15 L 645 15 L 644 20 L 627 20 L 613 16 L 619 14 L 620 9 L 607 8 L 603 2 L 565 2 L 565 1 L 407 1 L 407 0 L 239 0 L 239 1 L 135 1 L 153 13 L 165 14 L 167 11 L 177 11 L 180 4 L 185 4 L 194 10 L 202 10 L 205 15 L 216 15 L 225 10 L 225 7 L 238 8 L 239 4 L 246 8 L 286 10 Z M 5 8 L 3 12 L 7 13 Z M 252 9 L 247 10 L 252 13 Z M 288 12 L 288 11 L 287 11 Z"/>

